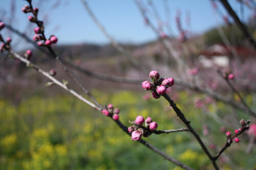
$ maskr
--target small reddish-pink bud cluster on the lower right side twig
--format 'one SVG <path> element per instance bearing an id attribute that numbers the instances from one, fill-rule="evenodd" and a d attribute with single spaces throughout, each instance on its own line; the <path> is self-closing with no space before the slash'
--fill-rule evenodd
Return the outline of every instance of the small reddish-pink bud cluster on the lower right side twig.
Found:
<path id="1" fill-rule="evenodd" d="M 250 120 L 245 121 L 244 119 L 240 120 L 241 128 L 234 130 L 234 136 L 230 131 L 226 132 L 227 142 L 230 144 L 232 141 L 238 143 L 240 140 L 238 138 L 244 131 L 249 129 Z"/>

